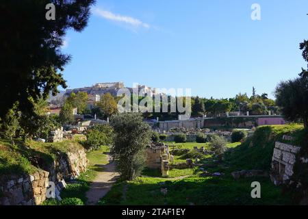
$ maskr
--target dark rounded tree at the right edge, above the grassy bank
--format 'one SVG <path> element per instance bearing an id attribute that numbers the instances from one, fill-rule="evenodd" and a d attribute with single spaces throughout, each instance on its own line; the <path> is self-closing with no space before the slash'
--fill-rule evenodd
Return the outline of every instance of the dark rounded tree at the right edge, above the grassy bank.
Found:
<path id="1" fill-rule="evenodd" d="M 308 78 L 297 77 L 279 83 L 275 92 L 276 103 L 283 116 L 290 121 L 302 120 L 308 127 Z"/>

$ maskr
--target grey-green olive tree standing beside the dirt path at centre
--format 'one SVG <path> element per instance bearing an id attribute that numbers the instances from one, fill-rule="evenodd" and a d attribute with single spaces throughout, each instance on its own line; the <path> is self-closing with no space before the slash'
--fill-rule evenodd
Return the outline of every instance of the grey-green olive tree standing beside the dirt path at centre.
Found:
<path id="1" fill-rule="evenodd" d="M 151 127 L 142 122 L 142 115 L 123 113 L 111 118 L 115 140 L 112 156 L 118 159 L 117 169 L 123 179 L 135 179 L 144 168 L 145 149 L 151 142 Z"/>

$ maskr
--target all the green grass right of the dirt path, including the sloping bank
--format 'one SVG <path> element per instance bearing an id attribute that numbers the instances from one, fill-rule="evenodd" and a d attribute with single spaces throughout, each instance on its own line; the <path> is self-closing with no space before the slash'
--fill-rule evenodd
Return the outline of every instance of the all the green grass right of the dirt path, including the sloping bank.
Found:
<path id="1" fill-rule="evenodd" d="M 240 144 L 228 143 L 229 150 L 223 161 L 208 155 L 201 159 L 199 166 L 169 171 L 163 178 L 159 170 L 144 170 L 142 177 L 133 181 L 119 181 L 101 199 L 100 205 L 290 205 L 290 193 L 282 193 L 269 177 L 233 179 L 234 170 L 268 170 L 274 142 L 282 141 L 283 134 L 294 137 L 292 144 L 298 144 L 303 136 L 303 126 L 283 125 L 259 127 L 252 138 Z M 205 146 L 203 143 L 167 143 L 177 148 L 193 149 Z M 183 156 L 175 156 L 175 162 L 185 162 Z M 207 174 L 205 174 L 205 171 Z M 220 176 L 212 173 L 219 172 Z M 261 198 L 251 198 L 251 183 L 261 184 Z M 163 194 L 161 189 L 167 189 Z"/>

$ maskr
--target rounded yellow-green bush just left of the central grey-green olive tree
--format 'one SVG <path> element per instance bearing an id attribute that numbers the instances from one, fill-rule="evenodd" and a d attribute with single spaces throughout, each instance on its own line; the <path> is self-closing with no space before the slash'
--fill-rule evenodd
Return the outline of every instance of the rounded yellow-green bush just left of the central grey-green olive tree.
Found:
<path id="1" fill-rule="evenodd" d="M 101 146 L 111 146 L 114 142 L 114 130 L 110 125 L 94 125 L 86 133 L 86 145 L 89 149 L 98 150 Z"/>

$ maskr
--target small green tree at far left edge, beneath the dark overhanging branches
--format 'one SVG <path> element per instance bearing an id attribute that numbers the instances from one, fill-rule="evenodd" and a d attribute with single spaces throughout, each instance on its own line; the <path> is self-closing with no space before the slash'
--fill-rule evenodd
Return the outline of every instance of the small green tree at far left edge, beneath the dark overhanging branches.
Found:
<path id="1" fill-rule="evenodd" d="M 8 138 L 11 140 L 12 145 L 14 145 L 14 137 L 16 134 L 17 129 L 19 126 L 19 118 L 20 118 L 20 112 L 18 112 L 17 106 L 18 104 L 15 103 L 13 108 L 8 111 L 8 113 L 5 115 L 4 119 L 1 120 L 1 129 L 3 132 L 4 138 Z"/>

